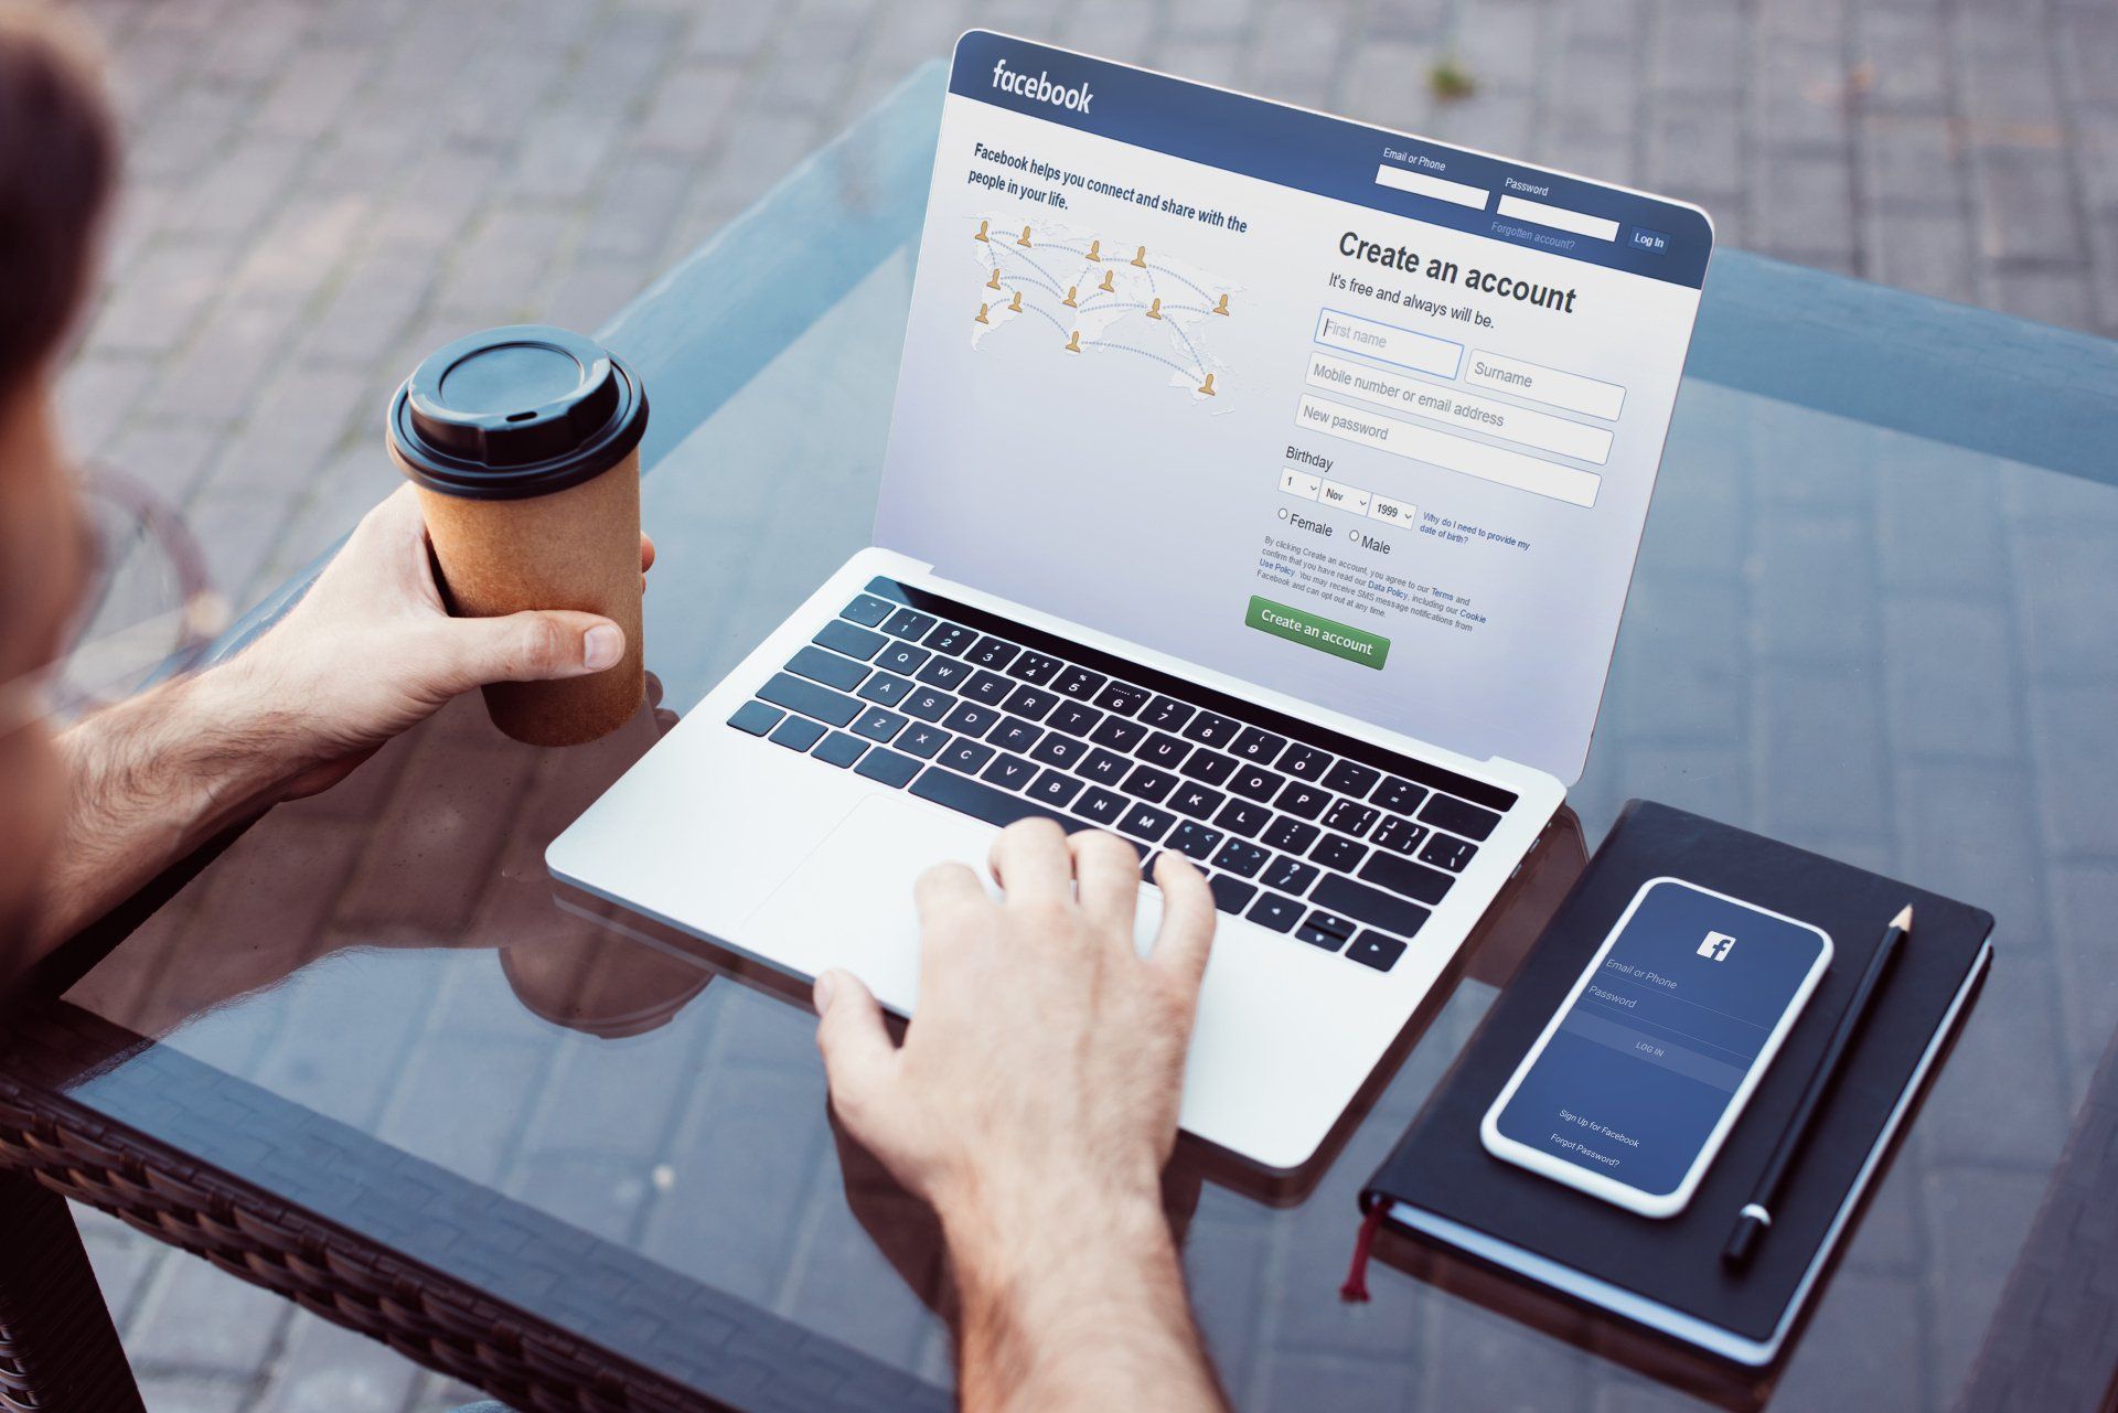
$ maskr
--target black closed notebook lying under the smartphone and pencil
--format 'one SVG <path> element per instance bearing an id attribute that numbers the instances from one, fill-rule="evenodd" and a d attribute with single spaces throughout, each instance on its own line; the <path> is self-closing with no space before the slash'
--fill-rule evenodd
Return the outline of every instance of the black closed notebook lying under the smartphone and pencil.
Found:
<path id="1" fill-rule="evenodd" d="M 1690 1205 L 1625 1212 L 1491 1157 L 1478 1123 L 1580 970 L 1652 877 L 1824 928 L 1830 968 Z M 1752 1265 L 1728 1229 L 1800 1099 L 1891 915 L 1913 930 Z M 1392 1227 L 1739 1364 L 1773 1362 L 1985 974 L 1991 913 L 1819 854 L 1631 801 L 1464 1055 L 1362 1193 Z"/>

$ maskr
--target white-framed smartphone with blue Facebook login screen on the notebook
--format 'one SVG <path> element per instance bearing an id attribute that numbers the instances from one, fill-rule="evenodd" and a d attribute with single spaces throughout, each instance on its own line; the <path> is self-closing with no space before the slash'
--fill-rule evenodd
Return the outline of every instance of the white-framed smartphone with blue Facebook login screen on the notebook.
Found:
<path id="1" fill-rule="evenodd" d="M 1675 1216 L 1830 962 L 1821 928 L 1648 879 L 1493 1099 L 1485 1150 Z"/>

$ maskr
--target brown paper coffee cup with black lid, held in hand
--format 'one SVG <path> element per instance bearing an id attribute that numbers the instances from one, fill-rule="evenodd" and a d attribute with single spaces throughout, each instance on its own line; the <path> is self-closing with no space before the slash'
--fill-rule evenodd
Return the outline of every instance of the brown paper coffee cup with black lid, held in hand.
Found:
<path id="1" fill-rule="evenodd" d="M 532 746 L 608 735 L 646 697 L 640 648 L 640 436 L 648 396 L 591 339 L 515 324 L 436 350 L 390 403 L 449 610 L 576 608 L 625 629 L 616 667 L 485 688 L 493 725 Z"/>

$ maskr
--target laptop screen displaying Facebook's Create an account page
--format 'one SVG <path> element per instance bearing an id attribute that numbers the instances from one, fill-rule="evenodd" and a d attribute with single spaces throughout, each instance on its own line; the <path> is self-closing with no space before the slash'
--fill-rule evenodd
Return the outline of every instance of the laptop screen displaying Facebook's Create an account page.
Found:
<path id="1" fill-rule="evenodd" d="M 1711 239 L 1690 205 L 970 32 L 877 542 L 1578 780 Z"/>

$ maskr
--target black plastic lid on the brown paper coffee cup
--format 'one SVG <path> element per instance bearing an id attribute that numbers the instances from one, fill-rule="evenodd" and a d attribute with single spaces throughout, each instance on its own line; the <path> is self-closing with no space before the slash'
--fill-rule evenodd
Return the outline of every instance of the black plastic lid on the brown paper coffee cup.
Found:
<path id="1" fill-rule="evenodd" d="M 390 400 L 390 445 L 432 491 L 523 500 L 616 466 L 648 426 L 648 394 L 616 354 L 544 324 L 457 339 Z"/>

